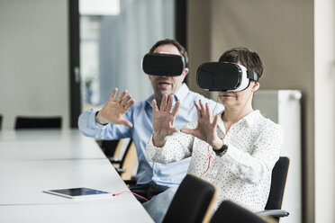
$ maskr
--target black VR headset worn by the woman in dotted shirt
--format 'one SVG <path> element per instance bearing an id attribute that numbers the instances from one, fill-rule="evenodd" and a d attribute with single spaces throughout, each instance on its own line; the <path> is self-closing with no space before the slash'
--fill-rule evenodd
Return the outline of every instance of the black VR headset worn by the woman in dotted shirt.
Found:
<path id="1" fill-rule="evenodd" d="M 209 91 L 231 91 L 240 86 L 242 69 L 233 63 L 204 63 L 196 72 L 196 82 Z"/>

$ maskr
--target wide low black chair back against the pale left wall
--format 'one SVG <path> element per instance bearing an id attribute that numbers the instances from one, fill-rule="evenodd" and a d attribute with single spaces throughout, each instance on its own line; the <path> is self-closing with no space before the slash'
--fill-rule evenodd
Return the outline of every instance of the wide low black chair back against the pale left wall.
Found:
<path id="1" fill-rule="evenodd" d="M 16 117 L 15 129 L 60 129 L 61 117 Z"/>

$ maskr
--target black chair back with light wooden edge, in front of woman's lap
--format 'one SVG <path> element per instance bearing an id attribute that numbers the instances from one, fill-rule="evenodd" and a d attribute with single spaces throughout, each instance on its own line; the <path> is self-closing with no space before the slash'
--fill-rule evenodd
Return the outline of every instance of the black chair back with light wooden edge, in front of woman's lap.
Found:
<path id="1" fill-rule="evenodd" d="M 194 174 L 186 174 L 171 201 L 163 222 L 209 222 L 216 189 Z"/>

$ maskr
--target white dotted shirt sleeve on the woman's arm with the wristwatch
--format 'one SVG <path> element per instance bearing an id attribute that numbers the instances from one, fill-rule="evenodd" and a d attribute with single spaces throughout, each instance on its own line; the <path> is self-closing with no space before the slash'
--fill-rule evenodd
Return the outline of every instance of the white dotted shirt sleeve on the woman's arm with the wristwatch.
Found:
<path id="1" fill-rule="evenodd" d="M 253 145 L 251 154 L 229 144 L 221 157 L 222 165 L 229 168 L 236 177 L 247 183 L 260 183 L 272 173 L 283 144 L 283 129 L 277 125 L 267 125 Z"/>

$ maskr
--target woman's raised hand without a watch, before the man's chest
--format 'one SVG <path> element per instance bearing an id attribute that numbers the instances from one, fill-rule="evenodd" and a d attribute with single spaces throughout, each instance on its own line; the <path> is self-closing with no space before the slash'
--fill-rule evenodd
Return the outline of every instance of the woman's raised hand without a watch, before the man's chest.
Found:
<path id="1" fill-rule="evenodd" d="M 156 100 L 152 100 L 152 127 L 154 131 L 153 144 L 155 147 L 164 147 L 167 137 L 177 131 L 177 129 L 173 127 L 173 123 L 175 121 L 180 102 L 177 101 L 171 112 L 172 105 L 173 94 L 170 94 L 169 96 L 168 94 L 163 95 L 159 110 Z"/>

